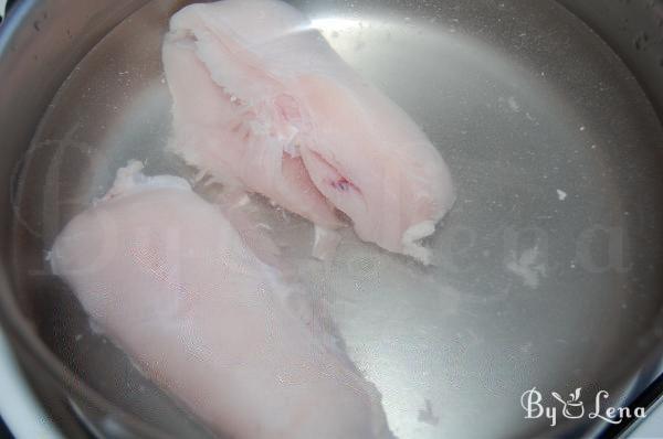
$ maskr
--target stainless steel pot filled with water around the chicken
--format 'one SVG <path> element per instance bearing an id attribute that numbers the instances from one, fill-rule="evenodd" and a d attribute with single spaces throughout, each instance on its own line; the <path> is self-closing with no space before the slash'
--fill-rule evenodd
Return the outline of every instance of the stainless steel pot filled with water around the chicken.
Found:
<path id="1" fill-rule="evenodd" d="M 71 438 L 209 436 L 91 331 L 44 263 L 127 159 L 187 172 L 162 153 L 159 60 L 185 3 L 23 0 L 0 28 L 0 317 Z M 329 271 L 301 264 L 304 278 L 325 276 L 391 427 L 402 438 L 617 433 L 600 419 L 525 419 L 520 396 L 580 387 L 593 404 L 603 389 L 622 406 L 657 376 L 663 2 L 294 3 L 422 125 L 460 190 L 432 270 L 359 243 Z"/>

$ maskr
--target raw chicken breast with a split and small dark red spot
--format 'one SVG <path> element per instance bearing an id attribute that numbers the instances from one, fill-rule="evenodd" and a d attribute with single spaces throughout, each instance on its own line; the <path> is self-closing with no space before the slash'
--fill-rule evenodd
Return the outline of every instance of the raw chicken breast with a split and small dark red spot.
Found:
<path id="1" fill-rule="evenodd" d="M 173 148 L 318 226 L 424 263 L 420 240 L 454 202 L 440 153 L 297 10 L 277 0 L 192 4 L 170 21 L 164 66 Z"/>

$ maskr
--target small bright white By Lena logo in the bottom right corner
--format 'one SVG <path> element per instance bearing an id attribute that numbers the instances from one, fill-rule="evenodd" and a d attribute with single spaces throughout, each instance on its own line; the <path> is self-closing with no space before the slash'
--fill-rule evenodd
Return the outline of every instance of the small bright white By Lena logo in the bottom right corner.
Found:
<path id="1" fill-rule="evenodd" d="M 525 419 L 546 418 L 550 421 L 550 427 L 558 424 L 559 416 L 566 419 L 602 419 L 610 424 L 621 424 L 624 419 L 644 418 L 644 407 L 611 407 L 606 405 L 606 399 L 610 394 L 606 390 L 600 390 L 596 394 L 593 406 L 586 408 L 581 398 L 582 388 L 578 387 L 571 392 L 567 398 L 559 395 L 557 392 L 551 392 L 552 398 L 544 401 L 544 395 L 533 387 L 523 393 L 520 396 L 520 406 L 525 410 Z M 547 404 L 550 403 L 550 404 Z M 561 408 L 561 411 L 559 409 Z"/>

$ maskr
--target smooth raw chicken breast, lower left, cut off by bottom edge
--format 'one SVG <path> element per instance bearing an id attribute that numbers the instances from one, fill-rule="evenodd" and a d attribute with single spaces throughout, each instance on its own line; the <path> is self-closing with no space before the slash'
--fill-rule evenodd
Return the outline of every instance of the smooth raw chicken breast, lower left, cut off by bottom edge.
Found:
<path id="1" fill-rule="evenodd" d="M 139 170 L 122 170 L 51 253 L 93 321 L 218 432 L 392 438 L 324 313 L 186 181 Z"/>

